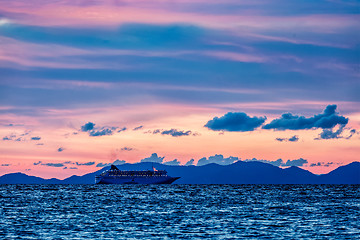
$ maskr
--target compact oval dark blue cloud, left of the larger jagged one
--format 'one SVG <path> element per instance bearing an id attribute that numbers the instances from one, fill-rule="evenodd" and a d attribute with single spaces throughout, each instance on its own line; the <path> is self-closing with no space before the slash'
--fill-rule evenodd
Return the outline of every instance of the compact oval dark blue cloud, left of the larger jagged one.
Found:
<path id="1" fill-rule="evenodd" d="M 254 131 L 265 120 L 266 117 L 250 117 L 243 112 L 228 112 L 220 118 L 214 117 L 205 127 L 214 131 L 247 132 Z"/>

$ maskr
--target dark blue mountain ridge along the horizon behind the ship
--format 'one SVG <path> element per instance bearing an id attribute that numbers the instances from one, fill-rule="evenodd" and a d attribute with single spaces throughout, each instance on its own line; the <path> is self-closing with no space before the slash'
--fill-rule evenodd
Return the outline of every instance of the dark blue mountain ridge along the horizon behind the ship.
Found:
<path id="1" fill-rule="evenodd" d="M 299 167 L 282 169 L 256 161 L 238 161 L 230 165 L 211 163 L 204 166 L 168 166 L 151 162 L 118 166 L 121 170 L 146 170 L 152 167 L 166 170 L 172 177 L 181 177 L 175 184 L 360 184 L 360 162 L 341 166 L 322 175 Z M 0 177 L 0 184 L 93 184 L 95 176 L 109 168 L 104 167 L 83 176 L 74 175 L 64 180 L 10 173 Z"/>

